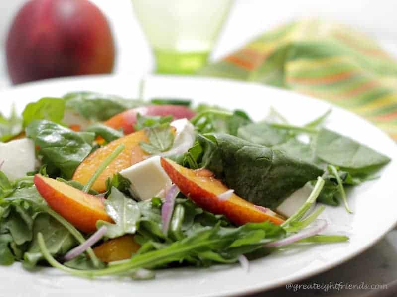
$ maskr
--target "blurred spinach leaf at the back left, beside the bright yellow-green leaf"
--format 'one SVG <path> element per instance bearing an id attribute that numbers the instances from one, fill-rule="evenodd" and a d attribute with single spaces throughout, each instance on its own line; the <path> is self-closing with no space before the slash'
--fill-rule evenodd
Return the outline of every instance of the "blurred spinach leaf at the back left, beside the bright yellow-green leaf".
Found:
<path id="1" fill-rule="evenodd" d="M 126 109 L 144 105 L 140 100 L 95 92 L 72 92 L 63 98 L 66 100 L 66 108 L 94 121 L 105 121 Z"/>

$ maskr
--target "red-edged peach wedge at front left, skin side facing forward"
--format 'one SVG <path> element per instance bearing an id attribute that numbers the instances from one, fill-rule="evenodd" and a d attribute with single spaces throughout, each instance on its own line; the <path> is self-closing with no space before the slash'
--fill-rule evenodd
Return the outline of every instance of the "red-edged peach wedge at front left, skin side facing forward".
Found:
<path id="1" fill-rule="evenodd" d="M 48 205 L 77 229 L 89 233 L 96 230 L 98 220 L 113 223 L 100 198 L 41 174 L 33 181 Z"/>

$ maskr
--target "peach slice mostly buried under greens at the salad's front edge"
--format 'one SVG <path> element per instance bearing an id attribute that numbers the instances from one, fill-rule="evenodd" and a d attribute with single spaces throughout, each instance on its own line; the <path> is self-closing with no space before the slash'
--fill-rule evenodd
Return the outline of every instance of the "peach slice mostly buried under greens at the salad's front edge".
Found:
<path id="1" fill-rule="evenodd" d="M 103 244 L 94 247 L 95 255 L 102 262 L 113 262 L 130 259 L 140 246 L 134 241 L 133 235 L 125 235 L 108 240 Z"/>

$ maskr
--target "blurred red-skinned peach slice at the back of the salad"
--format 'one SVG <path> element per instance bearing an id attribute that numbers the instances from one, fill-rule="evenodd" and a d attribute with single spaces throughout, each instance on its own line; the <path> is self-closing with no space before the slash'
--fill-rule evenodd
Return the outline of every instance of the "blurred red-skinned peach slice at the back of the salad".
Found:
<path id="1" fill-rule="evenodd" d="M 136 107 L 111 117 L 104 122 L 105 125 L 114 129 L 123 128 L 124 134 L 130 134 L 135 131 L 134 125 L 137 121 L 137 114 L 143 116 L 167 116 L 172 115 L 174 119 L 191 119 L 195 113 L 186 106 L 179 105 L 149 105 Z"/>

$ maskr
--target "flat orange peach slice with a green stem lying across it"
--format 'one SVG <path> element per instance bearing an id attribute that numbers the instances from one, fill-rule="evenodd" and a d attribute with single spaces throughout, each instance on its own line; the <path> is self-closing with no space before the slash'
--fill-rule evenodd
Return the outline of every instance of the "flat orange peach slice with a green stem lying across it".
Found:
<path id="1" fill-rule="evenodd" d="M 112 177 L 114 174 L 121 170 L 128 168 L 132 165 L 132 160 L 137 163 L 144 159 L 145 152 L 140 148 L 139 142 L 147 142 L 147 136 L 144 130 L 123 136 L 116 139 L 102 148 L 98 148 L 90 154 L 81 164 L 77 167 L 73 175 L 73 180 L 85 185 L 90 177 L 94 174 L 95 170 L 102 164 L 102 162 L 120 145 L 124 144 L 126 148 L 109 164 L 108 167 L 97 178 L 92 185 L 93 190 L 98 192 L 106 191 L 106 179 Z"/>

